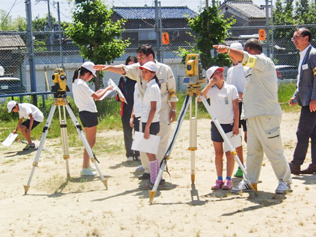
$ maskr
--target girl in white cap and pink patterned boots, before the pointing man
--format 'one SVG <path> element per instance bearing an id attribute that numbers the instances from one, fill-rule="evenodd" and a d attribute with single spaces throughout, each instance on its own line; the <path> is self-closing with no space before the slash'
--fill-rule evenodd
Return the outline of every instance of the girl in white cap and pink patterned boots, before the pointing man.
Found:
<path id="1" fill-rule="evenodd" d="M 159 111 L 161 108 L 160 84 L 156 77 L 159 70 L 155 62 L 147 62 L 139 67 L 142 71 L 142 77 L 147 81 L 147 88 L 143 97 L 143 112 L 141 121 L 143 123 L 144 138 L 148 139 L 149 134 L 156 135 L 160 130 L 159 126 Z M 149 182 L 141 185 L 140 188 L 151 189 L 156 182 L 156 177 L 159 171 L 159 162 L 155 154 L 147 153 L 149 159 Z"/>

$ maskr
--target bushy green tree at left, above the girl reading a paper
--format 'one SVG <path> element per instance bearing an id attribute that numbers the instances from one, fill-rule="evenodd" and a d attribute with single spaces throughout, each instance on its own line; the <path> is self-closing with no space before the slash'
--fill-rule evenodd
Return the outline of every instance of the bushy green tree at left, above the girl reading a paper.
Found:
<path id="1" fill-rule="evenodd" d="M 80 47 L 82 56 L 95 64 L 110 64 L 130 45 L 120 38 L 125 21 L 112 22 L 111 15 L 102 0 L 75 0 L 74 23 L 66 27 L 66 35 Z M 97 73 L 95 90 L 100 88 L 99 77 Z"/>

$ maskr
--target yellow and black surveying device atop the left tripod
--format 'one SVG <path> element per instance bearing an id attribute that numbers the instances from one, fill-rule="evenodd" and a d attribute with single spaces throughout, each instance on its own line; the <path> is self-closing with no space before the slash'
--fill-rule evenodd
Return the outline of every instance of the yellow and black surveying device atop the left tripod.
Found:
<path id="1" fill-rule="evenodd" d="M 56 68 L 53 76 L 53 86 L 51 86 L 51 92 L 54 93 L 55 98 L 66 97 L 66 92 L 69 91 L 69 87 L 66 84 L 66 75 L 64 69 Z"/>

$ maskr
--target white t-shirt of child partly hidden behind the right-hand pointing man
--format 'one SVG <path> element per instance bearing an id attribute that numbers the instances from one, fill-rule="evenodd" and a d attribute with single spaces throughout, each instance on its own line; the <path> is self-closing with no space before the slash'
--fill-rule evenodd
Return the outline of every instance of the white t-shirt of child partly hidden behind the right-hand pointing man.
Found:
<path id="1" fill-rule="evenodd" d="M 239 93 L 243 93 L 248 69 L 249 68 L 247 66 L 243 66 L 241 63 L 228 68 L 226 79 L 227 84 L 236 86 L 237 91 Z"/>

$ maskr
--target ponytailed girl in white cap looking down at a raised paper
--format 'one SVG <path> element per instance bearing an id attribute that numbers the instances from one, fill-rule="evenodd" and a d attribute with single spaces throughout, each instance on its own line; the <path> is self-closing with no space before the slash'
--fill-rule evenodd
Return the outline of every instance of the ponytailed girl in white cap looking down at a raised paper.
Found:
<path id="1" fill-rule="evenodd" d="M 93 62 L 84 62 L 73 74 L 73 99 L 79 109 L 80 120 L 86 132 L 86 140 L 88 140 L 91 149 L 95 145 L 98 125 L 97 107 L 93 99 L 99 100 L 107 90 L 113 89 L 112 86 L 108 86 L 105 89 L 100 89 L 95 92 L 88 86 L 87 82 L 93 79 L 93 77 L 96 77 L 95 68 L 93 68 L 93 66 L 95 66 Z M 95 169 L 90 166 L 89 155 L 86 149 L 84 149 L 84 162 L 80 175 L 97 175 L 94 171 Z"/>

